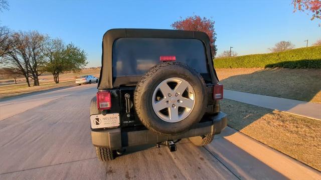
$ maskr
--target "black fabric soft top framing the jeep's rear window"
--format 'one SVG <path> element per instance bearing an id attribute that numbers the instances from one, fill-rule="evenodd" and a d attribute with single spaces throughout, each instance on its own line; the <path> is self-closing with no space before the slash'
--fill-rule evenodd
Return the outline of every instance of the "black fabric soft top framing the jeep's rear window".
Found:
<path id="1" fill-rule="evenodd" d="M 111 29 L 108 30 L 102 39 L 101 70 L 98 89 L 115 88 L 112 77 L 112 47 L 115 40 L 119 38 L 178 38 L 197 39 L 204 43 L 206 48 L 207 63 L 213 84 L 218 83 L 218 78 L 213 67 L 210 39 L 206 33 L 198 31 L 181 30 L 157 30 L 157 29 Z M 136 79 L 137 77 L 135 77 Z M 128 77 L 130 79 L 130 77 Z"/>

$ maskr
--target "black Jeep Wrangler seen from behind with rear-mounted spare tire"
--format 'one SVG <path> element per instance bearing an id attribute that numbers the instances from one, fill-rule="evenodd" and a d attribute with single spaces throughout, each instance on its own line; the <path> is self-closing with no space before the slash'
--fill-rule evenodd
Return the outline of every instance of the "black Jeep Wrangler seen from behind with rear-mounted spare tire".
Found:
<path id="1" fill-rule="evenodd" d="M 91 100 L 97 157 L 112 160 L 128 146 L 189 138 L 209 144 L 226 127 L 209 37 L 202 32 L 112 29 L 102 41 L 102 67 Z"/>

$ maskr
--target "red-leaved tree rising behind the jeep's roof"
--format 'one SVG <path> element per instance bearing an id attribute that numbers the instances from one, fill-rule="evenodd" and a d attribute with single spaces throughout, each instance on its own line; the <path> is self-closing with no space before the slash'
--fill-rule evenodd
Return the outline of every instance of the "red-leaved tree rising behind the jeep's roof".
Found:
<path id="1" fill-rule="evenodd" d="M 181 17 L 182 19 L 182 17 Z M 171 26 L 175 30 L 187 30 L 187 31 L 201 31 L 206 33 L 210 37 L 211 52 L 213 57 L 216 55 L 216 33 L 214 29 L 215 22 L 211 19 L 201 18 L 199 16 L 187 17 L 184 20 L 176 21 Z"/>

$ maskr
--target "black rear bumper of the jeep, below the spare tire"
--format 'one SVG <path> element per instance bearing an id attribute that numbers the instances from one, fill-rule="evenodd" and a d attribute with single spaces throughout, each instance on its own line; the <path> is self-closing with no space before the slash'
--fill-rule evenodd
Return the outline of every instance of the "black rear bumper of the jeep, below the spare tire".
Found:
<path id="1" fill-rule="evenodd" d="M 227 126 L 227 115 L 219 112 L 216 116 L 207 116 L 207 121 L 202 121 L 196 124 L 189 131 L 176 136 L 162 136 L 145 129 L 139 131 L 121 131 L 121 128 L 92 130 L 91 140 L 94 146 L 107 147 L 111 150 L 121 149 L 128 146 L 136 146 L 143 144 L 156 144 L 168 140 L 183 139 L 188 137 L 200 136 L 211 133 L 221 133 Z M 204 119 L 202 119 L 204 120 Z"/>

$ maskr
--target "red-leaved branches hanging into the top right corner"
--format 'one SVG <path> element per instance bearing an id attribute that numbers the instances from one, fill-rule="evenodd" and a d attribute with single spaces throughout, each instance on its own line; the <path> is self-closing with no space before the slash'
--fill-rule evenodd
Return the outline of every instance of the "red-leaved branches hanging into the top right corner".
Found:
<path id="1" fill-rule="evenodd" d="M 311 20 L 321 20 L 321 1 L 320 0 L 292 0 L 294 12 L 310 11 L 312 13 Z M 319 24 L 320 25 L 320 24 Z"/>

